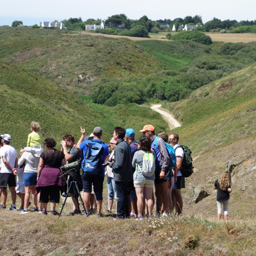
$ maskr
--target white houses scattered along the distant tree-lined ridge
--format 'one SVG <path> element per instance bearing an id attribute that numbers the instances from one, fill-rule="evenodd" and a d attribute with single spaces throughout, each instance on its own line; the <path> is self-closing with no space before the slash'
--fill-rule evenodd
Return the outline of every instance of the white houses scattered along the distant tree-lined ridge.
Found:
<path id="1" fill-rule="evenodd" d="M 42 21 L 38 22 L 38 26 L 42 28 L 59 28 L 60 30 L 66 29 L 66 26 L 63 22 L 50 22 L 50 21 Z M 102 21 L 100 25 L 96 24 L 86 24 L 85 30 L 96 30 L 96 29 L 104 29 L 106 26 L 104 25 L 104 22 Z M 160 28 L 169 28 L 170 26 L 168 24 L 162 24 L 159 26 Z M 179 25 L 178 29 L 175 27 L 175 25 L 172 26 L 172 31 L 188 31 L 188 30 L 195 30 L 198 27 L 198 25 Z"/>

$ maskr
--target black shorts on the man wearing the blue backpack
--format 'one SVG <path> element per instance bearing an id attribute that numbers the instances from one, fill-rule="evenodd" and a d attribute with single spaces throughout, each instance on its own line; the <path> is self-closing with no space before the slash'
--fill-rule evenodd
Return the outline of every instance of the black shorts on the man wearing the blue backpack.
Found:
<path id="1" fill-rule="evenodd" d="M 92 184 L 93 190 L 96 197 L 96 200 L 102 200 L 102 192 L 103 192 L 103 182 L 104 176 L 99 175 L 82 175 L 82 183 L 84 192 L 91 193 L 92 192 Z"/>

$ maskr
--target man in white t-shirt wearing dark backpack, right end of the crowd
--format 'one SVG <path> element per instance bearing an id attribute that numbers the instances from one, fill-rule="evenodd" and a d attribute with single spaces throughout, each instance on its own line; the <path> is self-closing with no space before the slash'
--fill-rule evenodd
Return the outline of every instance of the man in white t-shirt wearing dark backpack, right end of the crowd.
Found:
<path id="1" fill-rule="evenodd" d="M 174 150 L 175 150 L 175 155 L 176 155 L 176 161 L 177 161 L 177 181 L 174 183 L 172 187 L 172 202 L 173 202 L 173 207 L 175 206 L 176 213 L 179 215 L 182 213 L 182 208 L 183 208 L 183 200 L 181 196 L 181 188 L 184 187 L 182 186 L 182 183 L 184 182 L 184 177 L 182 177 L 182 174 L 180 172 L 180 168 L 182 166 L 182 160 L 184 158 L 184 151 L 180 144 L 178 143 L 179 136 L 176 133 L 172 133 L 169 136 L 169 141 L 172 144 Z"/>

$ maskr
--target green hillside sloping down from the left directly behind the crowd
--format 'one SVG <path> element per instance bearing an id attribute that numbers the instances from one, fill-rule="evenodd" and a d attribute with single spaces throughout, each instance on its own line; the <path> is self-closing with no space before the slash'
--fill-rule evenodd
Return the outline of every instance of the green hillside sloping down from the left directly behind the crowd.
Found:
<path id="1" fill-rule="evenodd" d="M 95 126 L 103 129 L 103 139 L 108 142 L 115 126 L 133 127 L 137 132 L 144 124 L 152 123 L 158 130 L 166 130 L 167 123 L 159 122 L 160 114 L 148 107 L 135 104 L 116 107 L 93 104 L 18 65 L 0 62 L 1 134 L 12 135 L 17 148 L 26 146 L 30 122 L 42 126 L 44 137 L 53 136 L 60 141 L 67 133 L 80 138 L 80 126 L 90 134 Z M 60 145 L 58 145 L 59 147 Z"/>

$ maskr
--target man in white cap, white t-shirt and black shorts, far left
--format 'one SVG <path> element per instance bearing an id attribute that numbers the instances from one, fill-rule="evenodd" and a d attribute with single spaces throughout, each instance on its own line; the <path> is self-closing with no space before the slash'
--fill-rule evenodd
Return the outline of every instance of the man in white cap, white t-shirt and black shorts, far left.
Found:
<path id="1" fill-rule="evenodd" d="M 16 210 L 16 173 L 18 168 L 18 157 L 16 150 L 10 146 L 11 136 L 9 134 L 1 135 L 3 146 L 0 148 L 1 170 L 0 170 L 0 193 L 2 193 L 1 209 L 6 209 L 7 189 L 9 186 L 12 195 L 12 206 L 9 210 Z"/>

